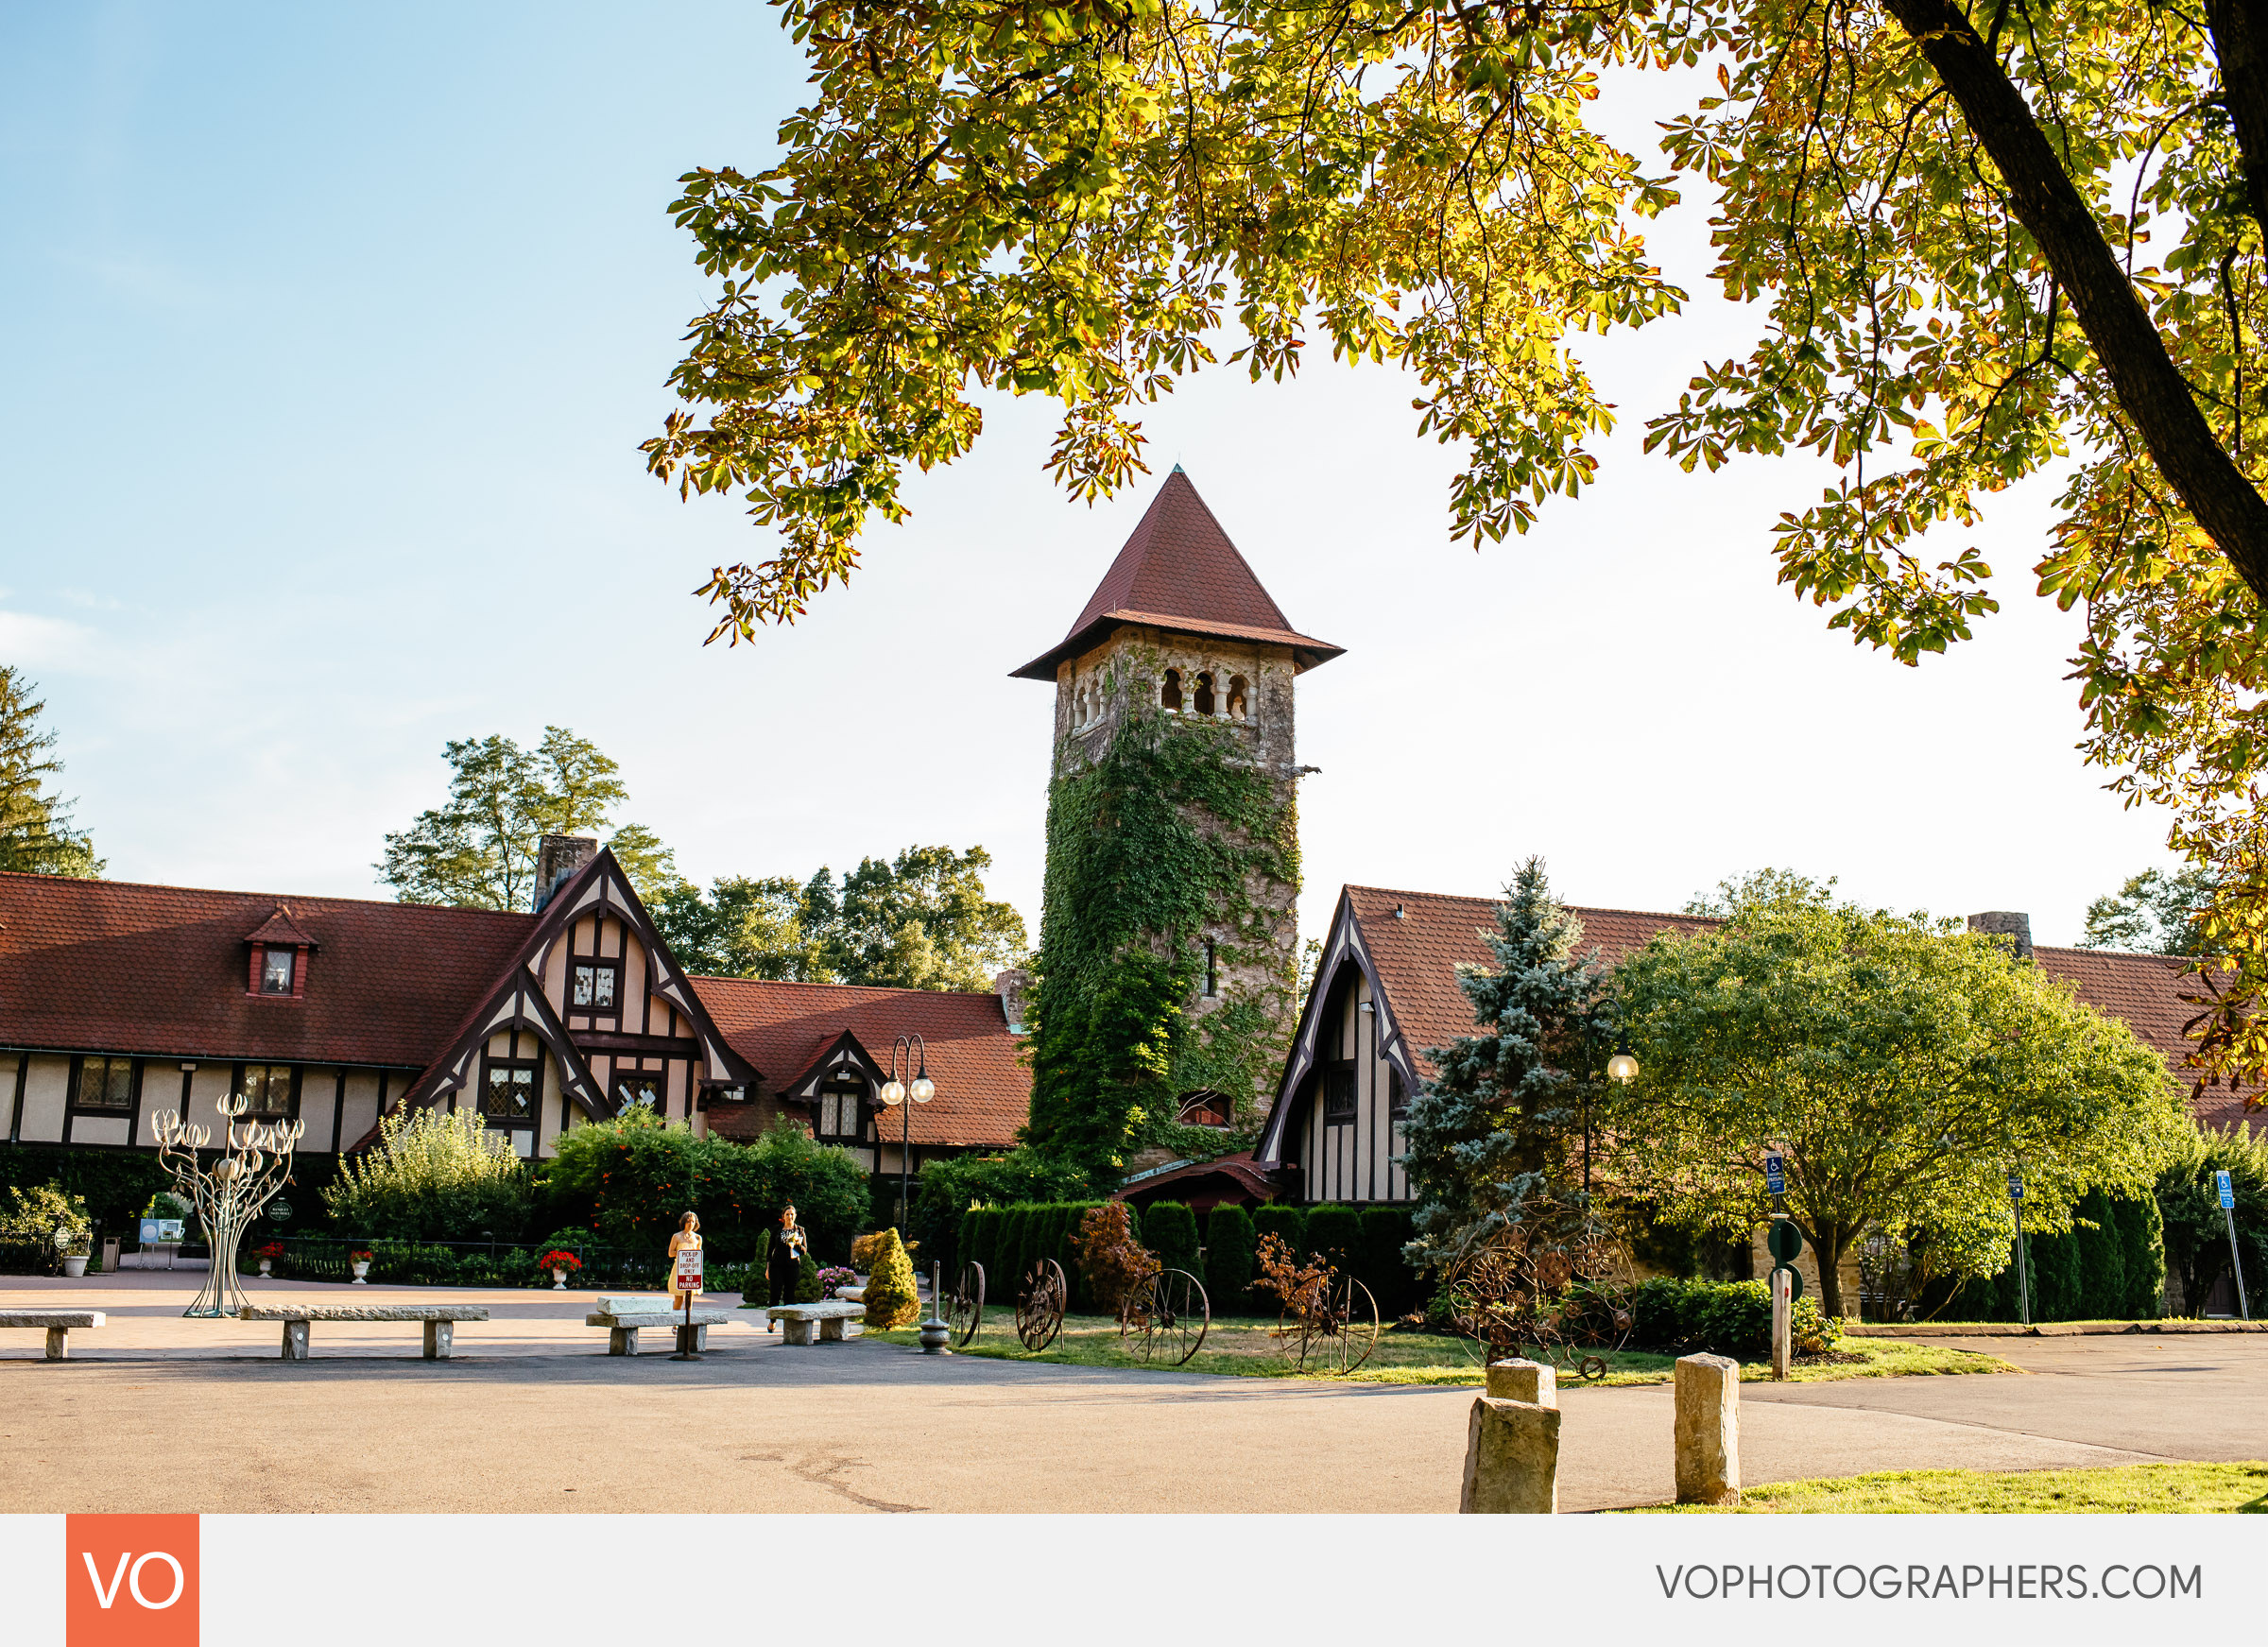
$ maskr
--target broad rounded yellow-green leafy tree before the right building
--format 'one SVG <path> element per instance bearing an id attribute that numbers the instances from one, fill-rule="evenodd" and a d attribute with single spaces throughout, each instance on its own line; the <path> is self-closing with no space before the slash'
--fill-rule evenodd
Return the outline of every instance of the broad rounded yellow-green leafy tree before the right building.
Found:
<path id="1" fill-rule="evenodd" d="M 1821 1307 L 1871 1230 L 1939 1277 L 1989 1275 L 2025 1227 L 2059 1234 L 2089 1191 L 2155 1182 L 2186 1116 L 2164 1059 L 1982 932 L 1778 882 L 1724 926 L 1658 935 L 1615 973 L 1640 1075 L 1610 1114 L 1619 1184 L 1674 1223 L 1744 1234 L 1787 1211 Z"/>

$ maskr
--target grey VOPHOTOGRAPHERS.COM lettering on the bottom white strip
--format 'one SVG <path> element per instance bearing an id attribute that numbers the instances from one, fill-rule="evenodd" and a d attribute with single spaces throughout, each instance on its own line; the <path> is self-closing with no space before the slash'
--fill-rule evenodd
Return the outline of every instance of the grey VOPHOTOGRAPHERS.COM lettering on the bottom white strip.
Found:
<path id="1" fill-rule="evenodd" d="M 1653 1568 L 1669 1602 L 2186 1602 L 2204 1599 L 2204 1568 L 2112 1563 L 2009 1563 L 1930 1568 L 1923 1563 Z"/>

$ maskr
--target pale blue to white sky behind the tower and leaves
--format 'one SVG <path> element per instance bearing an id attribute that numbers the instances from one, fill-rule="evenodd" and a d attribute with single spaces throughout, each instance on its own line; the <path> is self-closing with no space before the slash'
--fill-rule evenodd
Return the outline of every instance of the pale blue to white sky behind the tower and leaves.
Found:
<path id="1" fill-rule="evenodd" d="M 987 402 L 848 590 L 703 649 L 689 590 L 762 535 L 637 454 L 705 297 L 674 179 L 762 166 L 801 95 L 760 5 L 0 14 L 0 658 L 111 876 L 386 896 L 440 744 L 556 721 L 696 878 L 982 842 L 1036 935 L 1050 694 L 1007 669 L 1150 483 L 1070 504 L 1050 406 Z M 1488 892 L 1538 851 L 1576 903 L 1783 864 L 2071 941 L 2164 826 L 2073 753 L 2077 626 L 2023 576 L 2048 488 L 1973 535 L 2007 606 L 1978 642 L 1901 669 L 1828 635 L 1769 558 L 1814 465 L 1637 451 L 1753 324 L 1696 209 L 1649 238 L 1696 302 L 1588 349 L 1624 426 L 1524 540 L 1449 544 L 1454 454 L 1390 372 L 1143 413 L 1157 474 L 1347 647 L 1300 687 L 1306 930 L 1345 880 Z"/>

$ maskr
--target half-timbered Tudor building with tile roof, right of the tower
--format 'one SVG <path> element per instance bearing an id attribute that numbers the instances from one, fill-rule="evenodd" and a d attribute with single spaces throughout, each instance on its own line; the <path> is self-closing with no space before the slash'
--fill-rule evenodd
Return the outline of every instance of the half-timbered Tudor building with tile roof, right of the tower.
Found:
<path id="1" fill-rule="evenodd" d="M 1576 953 L 1597 951 L 1606 966 L 1642 948 L 1656 932 L 1715 926 L 1690 914 L 1640 910 L 1583 910 Z M 2182 1025 L 2184 962 L 2166 955 L 2123 955 L 2089 948 L 2034 948 L 2025 914 L 1969 917 L 1969 926 L 2005 932 L 2019 955 L 2030 955 L 2050 978 L 2064 978 L 2080 1000 L 2123 1019 L 2134 1034 L 2180 1069 L 2189 1050 Z M 1245 1177 L 1302 1202 L 1406 1202 L 1408 1177 L 1399 1157 L 1402 1112 L 1433 1066 L 1427 1050 L 1472 1034 L 1472 1003 L 1458 969 L 1492 962 L 1488 935 L 1497 928 L 1497 898 L 1454 898 L 1433 892 L 1343 887 L 1325 937 L 1315 982 L 1300 1012 L 1268 1130 L 1252 1150 Z M 2229 1127 L 2245 1114 L 2239 1093 L 2216 1091 L 2193 1105 L 2202 1125 Z M 1216 1198 L 1238 1196 L 1222 1177 L 1241 1157 L 1173 1173 L 1175 1180 L 1220 1180 Z M 1259 1175 L 1266 1175 L 1259 1177 Z M 1166 1193 L 1166 1184 L 1145 1191 Z M 1173 1184 L 1173 1193 L 1182 1193 Z M 1198 1196 L 1191 1196 L 1195 1202 Z"/>

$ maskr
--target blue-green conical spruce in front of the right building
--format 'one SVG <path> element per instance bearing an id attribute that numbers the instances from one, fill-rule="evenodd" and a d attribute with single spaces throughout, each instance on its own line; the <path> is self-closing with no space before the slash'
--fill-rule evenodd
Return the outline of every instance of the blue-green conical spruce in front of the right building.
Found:
<path id="1" fill-rule="evenodd" d="M 1567 1207 L 1565 1150 L 1588 1096 L 1581 1071 L 1594 1066 L 1599 1003 L 1597 969 L 1574 955 L 1581 937 L 1545 860 L 1529 858 L 1497 905 L 1490 964 L 1458 975 L 1479 1032 L 1427 1053 L 1436 1073 L 1404 1118 L 1413 1264 L 1454 1259 Z"/>

